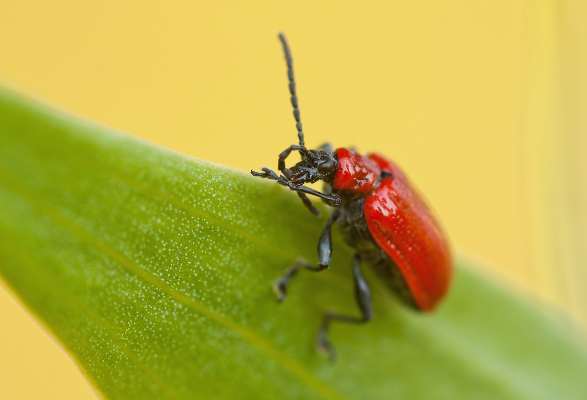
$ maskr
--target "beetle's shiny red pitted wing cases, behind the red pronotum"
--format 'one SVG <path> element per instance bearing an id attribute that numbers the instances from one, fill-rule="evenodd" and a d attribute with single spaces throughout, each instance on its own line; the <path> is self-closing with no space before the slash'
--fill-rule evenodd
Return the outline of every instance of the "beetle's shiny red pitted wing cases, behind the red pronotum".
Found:
<path id="1" fill-rule="evenodd" d="M 380 155 L 369 157 L 393 175 L 365 200 L 369 231 L 402 272 L 419 309 L 433 310 L 453 276 L 444 233 L 403 172 Z"/>

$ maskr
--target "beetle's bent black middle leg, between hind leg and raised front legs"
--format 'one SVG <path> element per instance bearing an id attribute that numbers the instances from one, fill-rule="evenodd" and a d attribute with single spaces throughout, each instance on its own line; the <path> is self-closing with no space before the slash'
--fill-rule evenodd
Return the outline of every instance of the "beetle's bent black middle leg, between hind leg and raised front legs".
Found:
<path id="1" fill-rule="evenodd" d="M 336 222 L 339 213 L 333 212 L 326 222 L 326 226 L 322 229 L 320 239 L 318 240 L 318 266 L 315 266 L 307 262 L 303 258 L 299 258 L 296 263 L 285 270 L 285 274 L 276 280 L 273 290 L 277 293 L 278 301 L 284 301 L 286 297 L 286 290 L 289 282 L 298 273 L 298 269 L 305 268 L 313 272 L 320 272 L 325 270 L 330 265 L 330 257 L 332 256 L 332 238 L 330 237 L 330 228 L 332 224 Z"/>

